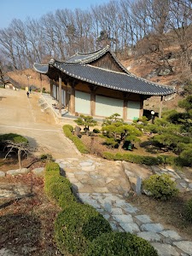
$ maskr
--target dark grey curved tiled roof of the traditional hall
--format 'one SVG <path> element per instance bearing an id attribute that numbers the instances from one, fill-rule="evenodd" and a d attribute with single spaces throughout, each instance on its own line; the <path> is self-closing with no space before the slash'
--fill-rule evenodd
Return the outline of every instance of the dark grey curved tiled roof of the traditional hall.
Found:
<path id="1" fill-rule="evenodd" d="M 112 55 L 113 60 L 121 67 L 125 73 L 110 71 L 101 67 L 90 65 L 107 52 Z M 49 75 L 49 68 L 55 67 L 62 73 L 70 77 L 79 79 L 90 84 L 96 84 L 113 90 L 127 91 L 148 96 L 166 96 L 175 93 L 174 88 L 170 86 L 155 84 L 146 79 L 141 79 L 127 71 L 121 65 L 115 55 L 109 49 L 109 46 L 89 54 L 78 53 L 73 55 L 67 61 L 56 61 L 51 59 L 49 64 L 34 64 L 34 69 L 39 73 Z"/>

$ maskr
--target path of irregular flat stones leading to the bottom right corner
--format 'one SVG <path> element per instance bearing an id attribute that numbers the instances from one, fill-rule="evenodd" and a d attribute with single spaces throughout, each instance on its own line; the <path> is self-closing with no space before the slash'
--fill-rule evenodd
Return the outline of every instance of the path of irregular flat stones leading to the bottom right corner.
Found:
<path id="1" fill-rule="evenodd" d="M 66 158 L 56 162 L 73 183 L 79 199 L 101 212 L 113 230 L 143 237 L 160 256 L 192 255 L 192 241 L 184 240 L 174 230 L 166 230 L 162 224 L 155 223 L 125 200 L 130 182 L 120 161 L 89 157 Z"/>

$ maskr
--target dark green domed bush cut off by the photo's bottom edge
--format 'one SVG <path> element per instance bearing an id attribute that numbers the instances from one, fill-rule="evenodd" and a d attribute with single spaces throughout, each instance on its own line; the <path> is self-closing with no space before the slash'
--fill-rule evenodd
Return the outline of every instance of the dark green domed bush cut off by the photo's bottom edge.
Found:
<path id="1" fill-rule="evenodd" d="M 102 234 L 90 243 L 84 256 L 158 256 L 148 241 L 130 233 Z"/>

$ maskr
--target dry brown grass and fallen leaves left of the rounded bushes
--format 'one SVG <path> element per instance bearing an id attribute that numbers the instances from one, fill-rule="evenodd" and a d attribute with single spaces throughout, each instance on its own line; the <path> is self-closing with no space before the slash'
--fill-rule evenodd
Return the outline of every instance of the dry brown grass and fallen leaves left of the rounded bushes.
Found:
<path id="1" fill-rule="evenodd" d="M 32 187 L 26 197 L 0 201 L 0 248 L 18 255 L 61 255 L 54 241 L 54 220 L 60 209 L 44 195 L 44 179 L 30 173 L 0 182 Z"/>

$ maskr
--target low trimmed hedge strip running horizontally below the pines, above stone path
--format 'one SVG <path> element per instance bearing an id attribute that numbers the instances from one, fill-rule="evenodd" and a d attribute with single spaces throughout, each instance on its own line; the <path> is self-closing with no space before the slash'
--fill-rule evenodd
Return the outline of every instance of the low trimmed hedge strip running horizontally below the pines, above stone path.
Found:
<path id="1" fill-rule="evenodd" d="M 109 152 L 103 152 L 102 157 L 108 160 L 125 160 L 131 163 L 143 164 L 147 166 L 160 165 L 163 163 L 163 159 L 160 156 L 154 157 L 139 154 L 112 154 Z"/>

